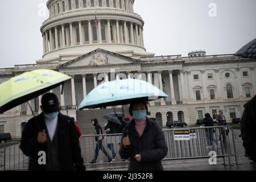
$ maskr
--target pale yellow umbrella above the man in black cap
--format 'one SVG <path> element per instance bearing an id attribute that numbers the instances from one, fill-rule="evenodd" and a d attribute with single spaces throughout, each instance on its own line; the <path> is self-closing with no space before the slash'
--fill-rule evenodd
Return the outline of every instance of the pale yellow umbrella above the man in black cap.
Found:
<path id="1" fill-rule="evenodd" d="M 0 112 L 5 112 L 63 84 L 71 77 L 48 69 L 36 69 L 0 84 Z"/>

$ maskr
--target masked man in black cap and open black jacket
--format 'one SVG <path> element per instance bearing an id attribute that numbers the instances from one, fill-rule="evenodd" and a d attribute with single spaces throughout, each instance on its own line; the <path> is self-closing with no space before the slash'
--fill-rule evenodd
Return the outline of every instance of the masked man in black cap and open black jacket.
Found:
<path id="1" fill-rule="evenodd" d="M 85 171 L 75 123 L 59 112 L 53 93 L 42 97 L 40 115 L 30 119 L 22 133 L 20 149 L 30 156 L 30 171 Z"/>

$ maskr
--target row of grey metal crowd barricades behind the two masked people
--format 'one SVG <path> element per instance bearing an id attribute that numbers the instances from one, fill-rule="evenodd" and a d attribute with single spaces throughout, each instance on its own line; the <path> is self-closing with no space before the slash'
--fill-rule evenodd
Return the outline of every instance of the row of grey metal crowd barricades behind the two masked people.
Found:
<path id="1" fill-rule="evenodd" d="M 227 133 L 229 129 L 229 133 Z M 174 132 L 176 130 L 190 130 L 189 140 L 175 140 Z M 195 127 L 195 128 L 179 128 L 164 130 L 164 135 L 168 147 L 168 152 L 163 160 L 183 160 L 183 159 L 209 159 L 211 151 L 214 151 L 216 158 L 222 158 L 224 165 L 226 159 L 228 164 L 232 165 L 232 160 L 237 161 L 236 145 L 234 141 L 234 133 L 229 126 L 217 127 Z M 109 164 L 109 158 L 115 156 L 115 163 L 127 163 L 118 155 L 122 134 L 108 135 L 82 135 L 80 138 L 81 155 L 84 158 L 85 165 L 91 165 L 94 159 L 95 151 L 98 150 L 98 157 L 94 164 Z M 105 154 L 96 144 L 96 137 L 104 138 L 102 146 L 104 146 Z M 220 140 L 220 142 L 218 142 Z M 3 155 L 3 161 L 0 158 L 0 164 L 3 163 L 4 170 L 26 170 L 28 169 L 27 156 L 19 148 L 19 140 L 10 140 L 0 148 Z M 114 152 L 112 153 L 112 148 Z"/>

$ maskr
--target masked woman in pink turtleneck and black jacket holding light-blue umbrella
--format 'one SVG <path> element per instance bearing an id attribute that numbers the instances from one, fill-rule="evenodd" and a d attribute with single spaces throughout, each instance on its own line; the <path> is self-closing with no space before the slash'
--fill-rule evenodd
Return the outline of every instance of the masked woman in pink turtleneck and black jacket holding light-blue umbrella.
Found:
<path id="1" fill-rule="evenodd" d="M 119 150 L 122 159 L 130 159 L 129 171 L 163 171 L 166 140 L 160 125 L 147 118 L 147 111 L 146 101 L 133 102 L 129 107 L 134 119 L 123 131 Z"/>

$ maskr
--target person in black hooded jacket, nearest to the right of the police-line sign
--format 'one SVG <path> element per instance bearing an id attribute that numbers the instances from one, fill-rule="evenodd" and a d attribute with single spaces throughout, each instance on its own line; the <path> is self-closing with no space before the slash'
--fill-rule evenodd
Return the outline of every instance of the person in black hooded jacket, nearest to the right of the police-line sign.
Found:
<path id="1" fill-rule="evenodd" d="M 212 117 L 210 117 L 210 114 L 206 113 L 204 116 L 205 116 L 204 122 L 203 122 L 204 126 L 205 127 L 213 126 L 213 119 Z M 205 135 L 207 137 L 207 144 L 208 144 L 208 146 L 206 147 L 207 149 L 210 149 L 213 147 L 212 141 L 216 143 L 217 147 L 219 147 L 219 142 L 215 138 L 214 133 L 215 133 L 215 130 L 213 128 L 205 129 Z"/>

